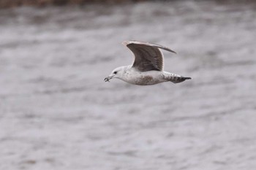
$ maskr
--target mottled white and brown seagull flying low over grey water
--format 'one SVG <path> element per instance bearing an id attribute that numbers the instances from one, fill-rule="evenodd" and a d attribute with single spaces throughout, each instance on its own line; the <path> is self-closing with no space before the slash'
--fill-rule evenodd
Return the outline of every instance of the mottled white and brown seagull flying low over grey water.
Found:
<path id="1" fill-rule="evenodd" d="M 118 78 L 133 85 L 155 85 L 160 82 L 178 83 L 191 79 L 191 77 L 163 71 L 164 56 L 159 49 L 172 53 L 176 53 L 175 51 L 162 45 L 136 40 L 124 41 L 122 44 L 132 51 L 135 57 L 134 62 L 132 65 L 114 69 L 108 77 L 105 77 L 105 82 Z"/>

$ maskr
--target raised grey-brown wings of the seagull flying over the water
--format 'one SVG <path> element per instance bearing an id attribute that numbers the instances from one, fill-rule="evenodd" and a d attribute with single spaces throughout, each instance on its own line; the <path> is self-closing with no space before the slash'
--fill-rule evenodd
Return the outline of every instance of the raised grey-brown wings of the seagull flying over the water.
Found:
<path id="1" fill-rule="evenodd" d="M 163 70 L 164 58 L 159 48 L 176 53 L 167 47 L 150 44 L 148 42 L 126 41 L 122 44 L 126 45 L 135 55 L 135 60 L 132 67 L 138 69 L 140 72 Z"/>

